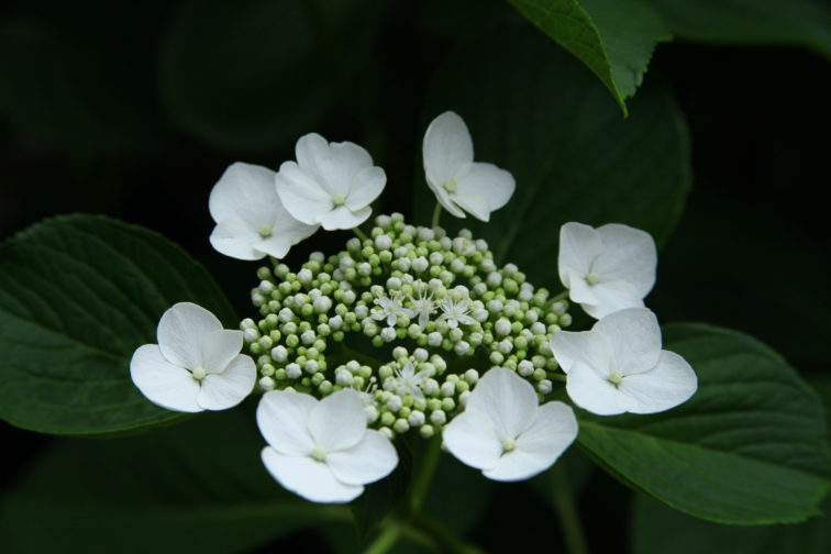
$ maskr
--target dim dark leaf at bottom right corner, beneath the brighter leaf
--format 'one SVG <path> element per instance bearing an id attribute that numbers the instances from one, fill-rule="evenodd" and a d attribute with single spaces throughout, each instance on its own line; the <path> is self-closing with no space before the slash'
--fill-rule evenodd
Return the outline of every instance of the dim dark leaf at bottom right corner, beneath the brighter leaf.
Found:
<path id="1" fill-rule="evenodd" d="M 633 554 L 828 554 L 831 501 L 824 516 L 796 525 L 721 525 L 638 495 L 632 512 Z"/>

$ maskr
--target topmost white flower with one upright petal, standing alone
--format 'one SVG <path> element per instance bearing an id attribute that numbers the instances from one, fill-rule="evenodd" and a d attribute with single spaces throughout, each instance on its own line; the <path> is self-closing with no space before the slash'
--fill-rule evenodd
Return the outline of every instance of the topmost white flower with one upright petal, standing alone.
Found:
<path id="1" fill-rule="evenodd" d="M 423 156 L 428 185 L 442 207 L 457 218 L 466 211 L 488 221 L 491 211 L 508 203 L 517 186 L 505 169 L 473 160 L 470 133 L 452 111 L 430 123 Z"/>

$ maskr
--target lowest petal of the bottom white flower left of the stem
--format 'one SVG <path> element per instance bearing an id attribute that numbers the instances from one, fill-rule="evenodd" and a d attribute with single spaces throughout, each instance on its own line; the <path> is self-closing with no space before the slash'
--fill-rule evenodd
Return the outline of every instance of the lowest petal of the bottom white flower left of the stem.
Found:
<path id="1" fill-rule="evenodd" d="M 269 446 L 263 448 L 262 457 L 280 485 L 312 502 L 348 502 L 364 491 L 364 487 L 339 481 L 326 464 L 312 458 L 287 456 Z"/>

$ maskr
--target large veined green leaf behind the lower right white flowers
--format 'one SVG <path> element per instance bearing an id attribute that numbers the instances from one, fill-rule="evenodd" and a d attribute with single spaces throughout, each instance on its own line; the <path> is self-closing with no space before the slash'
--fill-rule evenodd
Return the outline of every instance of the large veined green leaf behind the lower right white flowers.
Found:
<path id="1" fill-rule="evenodd" d="M 698 392 L 654 416 L 580 411 L 579 443 L 612 475 L 698 518 L 788 523 L 818 513 L 831 455 L 813 391 L 756 340 L 702 324 L 664 329 Z"/>

